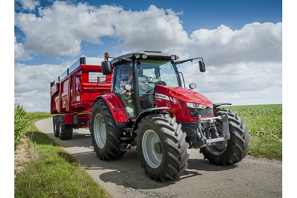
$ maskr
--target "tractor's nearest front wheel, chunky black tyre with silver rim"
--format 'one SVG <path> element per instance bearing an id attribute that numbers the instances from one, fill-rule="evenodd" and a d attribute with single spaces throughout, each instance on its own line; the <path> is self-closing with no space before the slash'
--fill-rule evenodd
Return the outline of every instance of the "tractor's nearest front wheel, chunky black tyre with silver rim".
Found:
<path id="1" fill-rule="evenodd" d="M 136 130 L 141 166 L 151 179 L 166 181 L 183 174 L 188 167 L 189 144 L 181 125 L 169 115 L 148 115 Z"/>

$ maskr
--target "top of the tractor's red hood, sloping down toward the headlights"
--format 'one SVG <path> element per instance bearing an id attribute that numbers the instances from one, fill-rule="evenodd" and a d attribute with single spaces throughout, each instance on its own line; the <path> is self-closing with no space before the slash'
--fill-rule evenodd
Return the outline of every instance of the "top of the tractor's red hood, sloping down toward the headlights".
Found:
<path id="1" fill-rule="evenodd" d="M 170 87 L 170 86 L 162 86 L 162 85 L 157 86 L 155 91 L 155 98 L 160 97 L 165 99 L 164 97 L 166 96 L 171 101 L 173 99 L 179 99 L 184 102 L 204 104 L 206 106 L 209 106 L 212 103 L 212 101 L 208 100 L 201 94 L 198 94 L 197 92 L 194 92 L 192 90 L 188 90 L 182 87 Z"/>

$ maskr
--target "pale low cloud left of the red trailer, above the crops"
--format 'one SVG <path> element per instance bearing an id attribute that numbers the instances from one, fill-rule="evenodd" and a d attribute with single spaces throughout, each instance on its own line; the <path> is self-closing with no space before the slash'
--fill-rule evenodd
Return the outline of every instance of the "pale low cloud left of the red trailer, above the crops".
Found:
<path id="1" fill-rule="evenodd" d="M 50 82 L 74 61 L 61 65 L 14 63 L 14 97 L 26 111 L 49 111 Z"/>

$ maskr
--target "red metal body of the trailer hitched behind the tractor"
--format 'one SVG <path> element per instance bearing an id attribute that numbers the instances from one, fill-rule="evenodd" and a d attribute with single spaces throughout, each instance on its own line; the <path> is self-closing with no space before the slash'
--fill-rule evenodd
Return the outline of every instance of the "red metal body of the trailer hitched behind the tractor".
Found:
<path id="1" fill-rule="evenodd" d="M 87 119 L 88 125 L 94 99 L 100 93 L 110 94 L 112 74 L 97 85 L 89 82 L 89 72 L 101 73 L 101 66 L 80 64 L 50 88 L 50 113 L 67 115 L 65 124 L 73 124 L 73 116 L 79 115 L 80 119 Z"/>

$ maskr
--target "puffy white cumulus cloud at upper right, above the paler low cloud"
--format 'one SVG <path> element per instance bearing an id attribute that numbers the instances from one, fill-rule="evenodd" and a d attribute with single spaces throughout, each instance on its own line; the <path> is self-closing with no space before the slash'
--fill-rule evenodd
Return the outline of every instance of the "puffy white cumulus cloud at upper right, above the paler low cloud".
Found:
<path id="1" fill-rule="evenodd" d="M 241 30 L 225 25 L 194 31 L 189 40 L 194 54 L 210 65 L 282 60 L 282 23 L 252 23 Z"/>

